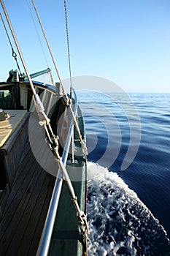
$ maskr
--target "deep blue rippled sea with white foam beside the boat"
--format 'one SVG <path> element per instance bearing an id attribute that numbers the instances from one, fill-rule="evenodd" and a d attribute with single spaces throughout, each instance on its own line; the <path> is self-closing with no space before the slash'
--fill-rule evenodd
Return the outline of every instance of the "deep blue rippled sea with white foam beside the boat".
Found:
<path id="1" fill-rule="evenodd" d="M 88 255 L 170 255 L 170 94 L 78 93 Z"/>

